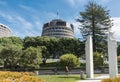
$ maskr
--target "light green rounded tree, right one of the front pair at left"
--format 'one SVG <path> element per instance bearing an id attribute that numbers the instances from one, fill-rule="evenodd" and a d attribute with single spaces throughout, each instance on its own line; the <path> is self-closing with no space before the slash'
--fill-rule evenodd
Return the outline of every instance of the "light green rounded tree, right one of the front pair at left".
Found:
<path id="1" fill-rule="evenodd" d="M 39 47 L 29 47 L 24 50 L 21 56 L 20 66 L 24 68 L 39 68 L 42 61 L 42 54 Z"/>

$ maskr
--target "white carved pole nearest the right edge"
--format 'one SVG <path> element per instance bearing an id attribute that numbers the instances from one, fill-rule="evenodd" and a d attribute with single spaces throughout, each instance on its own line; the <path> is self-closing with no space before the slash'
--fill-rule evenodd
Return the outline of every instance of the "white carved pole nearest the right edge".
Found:
<path id="1" fill-rule="evenodd" d="M 109 58 L 109 75 L 116 77 L 118 75 L 117 65 L 117 42 L 113 36 L 113 32 L 108 34 L 108 58 Z"/>

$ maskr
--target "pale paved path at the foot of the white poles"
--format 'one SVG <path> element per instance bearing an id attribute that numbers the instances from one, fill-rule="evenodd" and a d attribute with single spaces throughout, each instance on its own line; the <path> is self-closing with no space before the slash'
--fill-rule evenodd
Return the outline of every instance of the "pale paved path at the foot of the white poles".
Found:
<path id="1" fill-rule="evenodd" d="M 88 78 L 86 80 L 80 80 L 80 81 L 77 81 L 77 82 L 101 82 L 102 79 L 105 79 L 105 78 L 109 78 L 109 75 L 108 74 L 102 74 L 98 77 L 95 77 L 95 78 Z"/>

